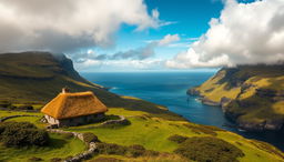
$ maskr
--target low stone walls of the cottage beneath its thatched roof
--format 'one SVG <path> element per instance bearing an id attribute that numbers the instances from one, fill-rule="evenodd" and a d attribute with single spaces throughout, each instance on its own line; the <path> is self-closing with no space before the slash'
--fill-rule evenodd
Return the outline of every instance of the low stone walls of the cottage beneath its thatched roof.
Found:
<path id="1" fill-rule="evenodd" d="M 50 124 L 57 124 L 58 126 L 77 126 L 88 123 L 94 123 L 101 121 L 104 118 L 104 113 L 90 114 L 78 118 L 55 120 L 52 117 L 44 115 Z"/>

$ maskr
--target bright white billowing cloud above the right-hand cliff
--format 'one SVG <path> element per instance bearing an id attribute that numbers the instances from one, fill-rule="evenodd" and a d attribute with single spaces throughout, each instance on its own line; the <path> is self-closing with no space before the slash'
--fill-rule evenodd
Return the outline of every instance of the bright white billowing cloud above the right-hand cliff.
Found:
<path id="1" fill-rule="evenodd" d="M 226 0 L 221 17 L 170 68 L 274 63 L 284 59 L 284 1 L 239 3 Z"/>

